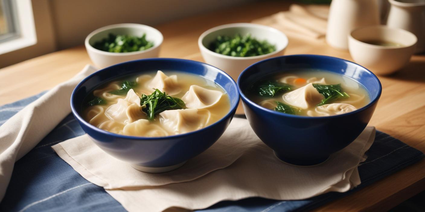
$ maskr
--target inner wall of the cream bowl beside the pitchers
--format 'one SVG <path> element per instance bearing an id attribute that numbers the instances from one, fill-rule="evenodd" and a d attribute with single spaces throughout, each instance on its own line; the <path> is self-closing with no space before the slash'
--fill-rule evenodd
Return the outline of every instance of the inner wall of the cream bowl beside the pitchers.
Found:
<path id="1" fill-rule="evenodd" d="M 402 29 L 388 28 L 386 26 L 370 26 L 364 27 L 351 32 L 351 36 L 360 41 L 377 40 L 394 42 L 401 44 L 402 47 L 412 46 L 416 43 L 417 39 L 413 33 Z M 402 48 L 391 47 L 391 48 Z M 384 48 L 384 46 L 382 46 Z"/>

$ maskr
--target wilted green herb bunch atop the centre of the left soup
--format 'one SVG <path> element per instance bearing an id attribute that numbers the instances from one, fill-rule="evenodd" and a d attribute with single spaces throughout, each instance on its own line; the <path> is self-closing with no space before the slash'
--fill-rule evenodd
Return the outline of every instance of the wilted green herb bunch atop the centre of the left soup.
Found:
<path id="1" fill-rule="evenodd" d="M 167 95 L 158 89 L 155 89 L 151 95 L 143 94 L 140 98 L 140 105 L 142 105 L 143 112 L 147 114 L 148 120 L 153 120 L 156 114 L 165 110 L 186 108 L 183 100 Z"/>

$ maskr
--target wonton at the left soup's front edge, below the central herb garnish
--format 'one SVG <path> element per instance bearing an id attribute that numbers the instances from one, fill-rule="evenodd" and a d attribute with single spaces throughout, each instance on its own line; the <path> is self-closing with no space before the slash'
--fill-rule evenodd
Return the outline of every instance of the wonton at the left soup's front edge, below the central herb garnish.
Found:
<path id="1" fill-rule="evenodd" d="M 140 119 L 127 124 L 124 126 L 122 132 L 125 135 L 142 137 L 161 137 L 169 135 L 163 128 L 146 119 Z"/>

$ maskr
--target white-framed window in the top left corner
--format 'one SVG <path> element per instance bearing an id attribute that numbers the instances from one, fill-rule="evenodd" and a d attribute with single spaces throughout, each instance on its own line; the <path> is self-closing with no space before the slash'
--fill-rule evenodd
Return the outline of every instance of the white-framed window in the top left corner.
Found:
<path id="1" fill-rule="evenodd" d="M 31 0 L 0 0 L 0 54 L 36 43 Z"/>

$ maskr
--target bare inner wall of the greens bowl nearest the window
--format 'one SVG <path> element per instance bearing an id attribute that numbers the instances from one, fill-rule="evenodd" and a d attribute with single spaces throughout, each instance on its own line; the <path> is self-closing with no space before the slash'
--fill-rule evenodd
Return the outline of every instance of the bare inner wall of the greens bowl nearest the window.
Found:
<path id="1" fill-rule="evenodd" d="M 112 28 L 109 28 L 112 27 Z M 98 29 L 98 32 L 94 32 L 94 35 L 91 36 L 91 38 L 88 40 L 88 43 L 93 46 L 94 43 L 97 41 L 100 41 L 104 38 L 108 37 L 109 33 L 113 33 L 115 35 L 131 35 L 131 36 L 143 36 L 144 33 L 146 33 L 146 40 L 153 42 L 154 46 L 158 46 L 162 42 L 162 35 L 157 31 L 155 28 L 151 28 L 149 26 L 144 25 L 138 25 L 138 24 L 131 24 L 128 26 L 117 26 L 113 27 L 109 26 L 106 28 L 100 28 Z"/>

